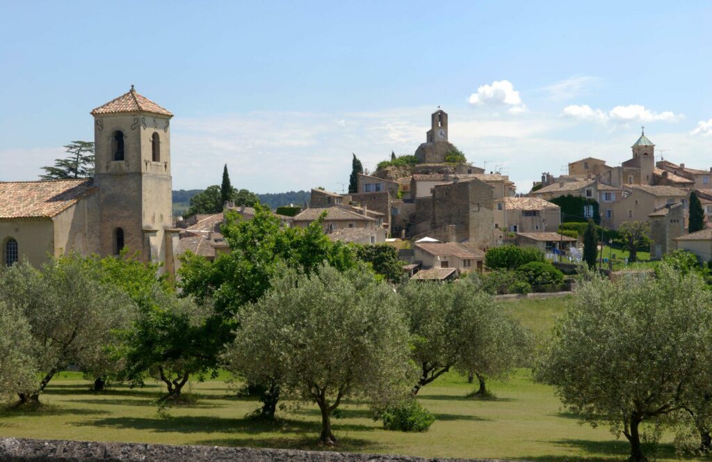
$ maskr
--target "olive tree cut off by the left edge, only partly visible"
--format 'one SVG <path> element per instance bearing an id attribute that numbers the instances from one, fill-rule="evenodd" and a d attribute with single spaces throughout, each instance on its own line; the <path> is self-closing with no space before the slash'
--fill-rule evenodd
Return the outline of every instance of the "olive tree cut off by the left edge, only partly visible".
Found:
<path id="1" fill-rule="evenodd" d="M 31 389 L 36 371 L 34 349 L 24 314 L 0 301 L 0 399 Z"/>

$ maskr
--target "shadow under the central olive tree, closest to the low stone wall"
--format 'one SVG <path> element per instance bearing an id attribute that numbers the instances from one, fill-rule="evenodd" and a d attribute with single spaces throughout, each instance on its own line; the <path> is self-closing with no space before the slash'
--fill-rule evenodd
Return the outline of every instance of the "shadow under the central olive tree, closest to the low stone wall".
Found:
<path id="1" fill-rule="evenodd" d="M 340 452 L 375 452 L 383 445 L 377 441 L 369 441 L 361 438 L 350 438 L 340 435 L 334 429 L 337 438 L 336 446 L 328 447 L 319 443 L 318 426 L 313 428 L 309 435 L 297 438 L 217 438 L 196 441 L 194 444 L 203 446 L 239 446 L 244 448 L 275 448 L 275 449 L 298 449 L 300 451 L 340 451 Z"/>

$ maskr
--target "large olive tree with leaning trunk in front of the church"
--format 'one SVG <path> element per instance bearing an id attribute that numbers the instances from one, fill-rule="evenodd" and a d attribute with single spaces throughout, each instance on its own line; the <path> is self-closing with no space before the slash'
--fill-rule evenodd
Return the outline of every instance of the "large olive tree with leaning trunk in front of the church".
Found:
<path id="1" fill-rule="evenodd" d="M 20 262 L 0 274 L 0 300 L 23 314 L 31 332 L 36 375 L 16 389 L 20 401 L 39 401 L 52 377 L 69 364 L 95 364 L 134 305 L 120 289 L 100 282 L 81 257 L 53 259 L 36 269 Z"/>

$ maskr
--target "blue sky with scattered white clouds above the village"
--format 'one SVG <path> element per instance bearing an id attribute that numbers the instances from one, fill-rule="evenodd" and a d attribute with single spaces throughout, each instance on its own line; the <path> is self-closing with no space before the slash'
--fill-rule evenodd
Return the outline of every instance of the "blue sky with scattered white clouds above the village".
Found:
<path id="1" fill-rule="evenodd" d="M 712 166 L 705 1 L 0 0 L 0 180 L 36 180 L 136 86 L 174 113 L 174 189 L 347 188 L 430 114 L 527 192 L 593 156 Z"/>

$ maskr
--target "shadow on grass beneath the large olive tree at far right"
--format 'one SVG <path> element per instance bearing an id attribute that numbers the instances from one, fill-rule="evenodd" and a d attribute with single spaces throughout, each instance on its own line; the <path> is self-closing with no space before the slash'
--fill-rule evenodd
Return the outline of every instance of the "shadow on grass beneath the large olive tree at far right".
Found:
<path id="1" fill-rule="evenodd" d="M 578 448 L 592 454 L 591 456 L 523 456 L 525 461 L 587 461 L 587 462 L 620 462 L 626 460 L 630 453 L 630 445 L 627 440 L 592 441 L 582 439 L 562 439 L 558 441 L 540 441 L 542 443 L 554 444 L 565 448 Z M 646 456 L 654 458 L 678 458 L 675 448 L 671 444 L 660 443 L 655 448 L 644 446 Z M 597 454 L 607 454 L 599 456 Z"/>

